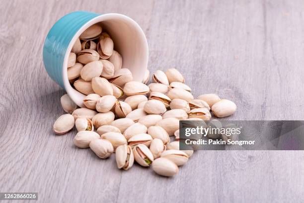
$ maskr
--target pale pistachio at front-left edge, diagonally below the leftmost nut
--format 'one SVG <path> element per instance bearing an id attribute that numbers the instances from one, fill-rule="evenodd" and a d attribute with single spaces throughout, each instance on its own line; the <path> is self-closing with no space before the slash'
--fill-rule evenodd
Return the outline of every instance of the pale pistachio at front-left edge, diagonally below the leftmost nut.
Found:
<path id="1" fill-rule="evenodd" d="M 88 148 L 92 140 L 99 138 L 100 136 L 94 131 L 79 131 L 74 138 L 74 144 L 79 148 Z"/>

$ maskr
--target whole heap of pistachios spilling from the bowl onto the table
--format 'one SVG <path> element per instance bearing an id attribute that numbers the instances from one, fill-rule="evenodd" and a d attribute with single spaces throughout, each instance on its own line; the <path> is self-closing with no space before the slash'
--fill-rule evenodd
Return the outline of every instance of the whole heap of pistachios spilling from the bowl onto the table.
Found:
<path id="1" fill-rule="evenodd" d="M 67 94 L 62 96 L 67 114 L 55 121 L 53 130 L 61 135 L 76 126 L 75 145 L 90 148 L 101 159 L 115 153 L 119 169 L 130 169 L 135 160 L 143 167 L 152 166 L 158 175 L 174 176 L 193 154 L 193 150 L 179 150 L 179 120 L 210 120 L 210 110 L 217 117 L 236 110 L 234 102 L 216 94 L 194 99 L 174 68 L 155 71 L 149 85 L 148 70 L 142 82 L 133 81 L 99 25 L 79 38 L 70 55 L 68 76 L 76 90 L 86 95 L 85 107 L 79 108 Z M 169 136 L 176 141 L 170 142 Z"/>

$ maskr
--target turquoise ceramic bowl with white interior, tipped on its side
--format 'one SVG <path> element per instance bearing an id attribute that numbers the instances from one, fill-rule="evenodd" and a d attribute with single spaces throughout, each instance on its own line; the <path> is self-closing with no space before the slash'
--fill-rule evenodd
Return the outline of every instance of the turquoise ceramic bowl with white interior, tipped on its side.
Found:
<path id="1" fill-rule="evenodd" d="M 49 31 L 43 47 L 43 63 L 53 81 L 64 88 L 80 107 L 85 95 L 69 83 L 67 65 L 76 39 L 89 26 L 98 23 L 113 39 L 114 49 L 123 59 L 122 68 L 128 68 L 135 81 L 142 81 L 148 66 L 149 49 L 141 27 L 130 17 L 118 14 L 97 14 L 76 11 L 60 18 Z"/>

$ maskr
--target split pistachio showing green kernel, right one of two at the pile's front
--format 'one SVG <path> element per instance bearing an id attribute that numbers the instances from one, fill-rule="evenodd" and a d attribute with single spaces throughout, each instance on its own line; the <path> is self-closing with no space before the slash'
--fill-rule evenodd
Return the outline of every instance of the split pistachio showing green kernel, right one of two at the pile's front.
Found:
<path id="1" fill-rule="evenodd" d="M 141 166 L 149 167 L 154 161 L 150 149 L 144 144 L 135 146 L 133 148 L 133 154 L 135 161 Z"/>

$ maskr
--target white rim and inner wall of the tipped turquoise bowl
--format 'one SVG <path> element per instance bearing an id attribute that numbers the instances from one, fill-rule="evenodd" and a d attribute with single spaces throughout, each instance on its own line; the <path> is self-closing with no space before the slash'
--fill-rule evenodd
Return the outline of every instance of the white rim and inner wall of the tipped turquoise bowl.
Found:
<path id="1" fill-rule="evenodd" d="M 133 80 L 142 82 L 148 66 L 149 49 L 146 36 L 141 27 L 130 17 L 108 13 L 99 15 L 84 24 L 71 40 L 63 63 L 63 80 L 65 89 L 70 98 L 80 107 L 83 107 L 85 95 L 76 91 L 68 80 L 68 58 L 76 39 L 89 26 L 99 23 L 113 39 L 114 49 L 122 56 L 122 68 L 128 68 Z"/>

